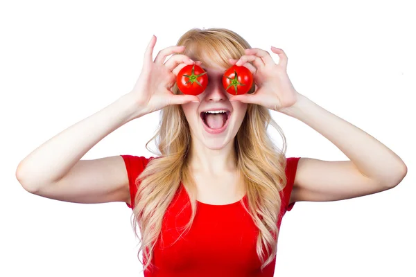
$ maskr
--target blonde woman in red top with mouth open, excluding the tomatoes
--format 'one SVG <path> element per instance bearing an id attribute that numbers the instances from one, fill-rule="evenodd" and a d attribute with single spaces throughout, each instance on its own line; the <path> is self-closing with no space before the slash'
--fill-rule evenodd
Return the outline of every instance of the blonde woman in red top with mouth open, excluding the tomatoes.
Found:
<path id="1" fill-rule="evenodd" d="M 155 43 L 153 36 L 132 91 L 41 145 L 16 172 L 28 192 L 43 197 L 125 202 L 135 233 L 140 229 L 145 276 L 273 276 L 281 219 L 295 202 L 370 195 L 406 175 L 394 152 L 294 89 L 281 49 L 271 48 L 276 64 L 267 51 L 223 28 L 189 30 L 153 60 Z M 209 75 L 198 96 L 175 84 L 187 64 Z M 222 74 L 233 64 L 252 71 L 249 93 L 223 89 Z M 202 113 L 213 109 L 229 111 L 219 134 L 204 127 L 214 115 Z M 306 123 L 350 161 L 286 158 L 286 139 L 269 109 Z M 115 129 L 157 110 L 157 157 L 80 160 Z M 281 150 L 266 132 L 269 123 L 283 139 Z"/>

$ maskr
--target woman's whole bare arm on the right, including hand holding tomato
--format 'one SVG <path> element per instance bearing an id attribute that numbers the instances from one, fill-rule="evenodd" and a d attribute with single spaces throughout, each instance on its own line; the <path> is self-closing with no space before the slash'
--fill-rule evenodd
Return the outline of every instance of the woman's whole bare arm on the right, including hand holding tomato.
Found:
<path id="1" fill-rule="evenodd" d="M 331 114 L 298 93 L 287 74 L 288 57 L 281 48 L 276 64 L 260 48 L 245 49 L 231 64 L 246 66 L 254 74 L 253 94 L 231 96 L 230 101 L 263 105 L 306 123 L 339 148 L 350 161 L 301 158 L 297 164 L 291 201 L 335 201 L 379 193 L 406 176 L 404 162 L 383 143 L 362 129 Z"/>

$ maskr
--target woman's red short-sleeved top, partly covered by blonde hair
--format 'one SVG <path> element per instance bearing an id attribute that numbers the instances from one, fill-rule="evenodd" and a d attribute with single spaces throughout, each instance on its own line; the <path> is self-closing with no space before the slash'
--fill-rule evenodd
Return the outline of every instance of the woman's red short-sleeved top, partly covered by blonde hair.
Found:
<path id="1" fill-rule="evenodd" d="M 130 198 L 134 208 L 137 187 L 135 180 L 144 170 L 150 159 L 131 155 L 121 155 L 125 161 L 130 182 Z M 297 163 L 300 158 L 288 158 L 286 166 L 287 185 L 277 226 L 286 211 L 295 179 Z M 280 193 L 280 196 L 282 194 Z M 247 205 L 246 197 L 243 197 Z M 177 195 L 166 210 L 162 224 L 163 242 L 157 241 L 153 252 L 155 269 L 144 271 L 145 277 L 173 276 L 227 276 L 227 277 L 272 277 L 276 258 L 260 271 L 261 262 L 256 253 L 258 229 L 241 202 L 225 205 L 211 205 L 197 202 L 197 213 L 191 229 L 182 234 L 182 227 L 189 222 L 191 205 L 186 190 L 180 185 Z M 175 242 L 175 240 L 177 240 Z M 173 244 L 173 242 L 175 242 Z"/>

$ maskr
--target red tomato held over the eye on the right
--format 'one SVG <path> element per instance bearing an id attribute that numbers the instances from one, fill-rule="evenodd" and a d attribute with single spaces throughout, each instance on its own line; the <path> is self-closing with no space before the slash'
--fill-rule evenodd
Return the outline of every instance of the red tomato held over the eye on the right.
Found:
<path id="1" fill-rule="evenodd" d="M 253 75 L 245 66 L 231 66 L 223 75 L 223 87 L 232 95 L 244 94 L 250 91 Z"/>

